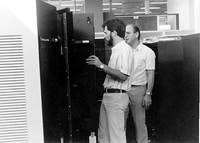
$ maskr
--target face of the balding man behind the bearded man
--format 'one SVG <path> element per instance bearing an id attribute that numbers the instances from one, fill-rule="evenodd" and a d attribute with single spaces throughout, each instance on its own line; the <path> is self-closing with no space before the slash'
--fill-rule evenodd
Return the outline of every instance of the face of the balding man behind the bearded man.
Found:
<path id="1" fill-rule="evenodd" d="M 131 25 L 126 26 L 125 41 L 128 44 L 132 44 L 137 40 L 137 33 L 134 32 L 134 29 Z"/>

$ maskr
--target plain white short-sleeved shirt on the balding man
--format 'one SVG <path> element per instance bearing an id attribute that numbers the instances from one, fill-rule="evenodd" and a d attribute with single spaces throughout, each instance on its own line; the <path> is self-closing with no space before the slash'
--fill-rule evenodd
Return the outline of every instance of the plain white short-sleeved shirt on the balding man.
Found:
<path id="1" fill-rule="evenodd" d="M 155 70 L 155 57 L 153 50 L 142 43 L 133 49 L 131 85 L 145 85 L 147 83 L 146 70 Z"/>

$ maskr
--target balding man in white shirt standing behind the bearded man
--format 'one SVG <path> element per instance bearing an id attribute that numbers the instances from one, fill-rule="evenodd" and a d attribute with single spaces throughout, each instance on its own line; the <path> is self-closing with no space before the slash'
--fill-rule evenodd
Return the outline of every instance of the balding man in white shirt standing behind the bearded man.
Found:
<path id="1" fill-rule="evenodd" d="M 155 54 L 140 42 L 140 30 L 133 24 L 126 26 L 125 41 L 132 47 L 133 61 L 128 91 L 136 128 L 137 143 L 148 143 L 145 109 L 151 105 L 154 85 Z"/>

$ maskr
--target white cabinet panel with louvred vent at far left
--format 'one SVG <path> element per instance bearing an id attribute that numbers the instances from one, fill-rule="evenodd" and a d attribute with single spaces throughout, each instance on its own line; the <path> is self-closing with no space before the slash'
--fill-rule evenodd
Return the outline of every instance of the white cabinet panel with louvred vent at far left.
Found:
<path id="1" fill-rule="evenodd" d="M 43 143 L 36 1 L 0 1 L 0 142 Z"/>

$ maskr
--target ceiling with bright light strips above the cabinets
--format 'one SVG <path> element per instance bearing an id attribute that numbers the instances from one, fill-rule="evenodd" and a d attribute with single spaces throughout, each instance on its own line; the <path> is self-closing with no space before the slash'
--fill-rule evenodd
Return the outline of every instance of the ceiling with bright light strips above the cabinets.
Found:
<path id="1" fill-rule="evenodd" d="M 85 0 L 43 0 L 62 9 L 70 8 L 77 13 L 85 12 Z M 103 12 L 116 15 L 128 14 L 163 14 L 167 11 L 167 0 L 102 0 Z M 112 5 L 110 5 L 112 2 Z"/>

